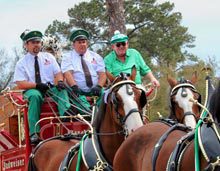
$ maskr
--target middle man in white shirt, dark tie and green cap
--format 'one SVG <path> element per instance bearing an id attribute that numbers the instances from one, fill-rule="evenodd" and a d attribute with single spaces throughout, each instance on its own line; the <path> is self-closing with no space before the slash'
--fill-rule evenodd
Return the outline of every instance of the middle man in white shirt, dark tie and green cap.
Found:
<path id="1" fill-rule="evenodd" d="M 70 36 L 73 50 L 64 56 L 61 62 L 61 69 L 68 85 L 86 106 L 85 108 L 90 107 L 86 96 L 100 97 L 106 82 L 103 58 L 88 49 L 89 37 L 89 33 L 84 29 L 74 30 Z M 74 100 L 73 103 L 79 106 Z M 100 100 L 97 103 L 100 103 Z"/>

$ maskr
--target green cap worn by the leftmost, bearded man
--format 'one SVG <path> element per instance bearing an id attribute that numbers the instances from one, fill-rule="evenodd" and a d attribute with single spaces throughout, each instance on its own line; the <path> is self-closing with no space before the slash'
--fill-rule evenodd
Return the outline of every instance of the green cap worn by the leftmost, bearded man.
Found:
<path id="1" fill-rule="evenodd" d="M 29 41 L 29 40 L 39 40 L 41 41 L 43 37 L 43 34 L 40 31 L 30 31 L 30 30 L 25 30 L 21 35 L 20 38 L 23 41 Z"/>

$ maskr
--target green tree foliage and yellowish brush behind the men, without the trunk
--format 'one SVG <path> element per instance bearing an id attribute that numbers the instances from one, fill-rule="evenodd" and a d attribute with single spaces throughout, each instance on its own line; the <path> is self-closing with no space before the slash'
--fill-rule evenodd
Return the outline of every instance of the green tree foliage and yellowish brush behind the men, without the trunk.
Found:
<path id="1" fill-rule="evenodd" d="M 195 37 L 188 33 L 187 27 L 181 25 L 182 15 L 173 12 L 174 4 L 170 2 L 158 4 L 156 0 L 124 2 L 129 46 L 140 51 L 161 83 L 156 100 L 151 102 L 148 108 L 150 119 L 157 118 L 157 112 L 164 116 L 169 115 L 167 74 L 174 78 L 184 76 L 190 79 L 192 73 L 197 71 L 199 80 L 196 87 L 204 97 L 205 73 L 201 72 L 201 68 L 206 64 L 187 51 L 194 47 Z M 109 17 L 106 10 L 104 0 L 79 3 L 68 10 L 70 18 L 68 23 L 55 20 L 48 26 L 46 33 L 67 40 L 74 28 L 84 28 L 92 35 L 91 44 L 99 44 L 95 49 L 99 47 L 98 53 L 105 56 L 110 51 L 108 43 L 107 46 L 103 46 L 103 41 L 109 42 L 110 39 Z"/>

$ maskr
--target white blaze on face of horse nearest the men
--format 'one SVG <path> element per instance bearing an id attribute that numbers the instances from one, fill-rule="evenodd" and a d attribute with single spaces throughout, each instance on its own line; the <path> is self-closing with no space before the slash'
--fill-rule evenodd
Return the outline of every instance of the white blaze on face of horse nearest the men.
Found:
<path id="1" fill-rule="evenodd" d="M 138 110 L 137 102 L 134 100 L 134 92 L 132 95 L 127 93 L 127 88 L 129 91 L 132 91 L 132 87 L 130 85 L 123 85 L 119 90 L 118 94 L 121 96 L 122 101 L 124 103 L 124 111 L 125 115 L 127 115 L 132 109 Z M 128 134 L 131 134 L 137 128 L 143 126 L 143 121 L 139 112 L 133 112 L 125 121 L 125 126 L 128 129 Z"/>

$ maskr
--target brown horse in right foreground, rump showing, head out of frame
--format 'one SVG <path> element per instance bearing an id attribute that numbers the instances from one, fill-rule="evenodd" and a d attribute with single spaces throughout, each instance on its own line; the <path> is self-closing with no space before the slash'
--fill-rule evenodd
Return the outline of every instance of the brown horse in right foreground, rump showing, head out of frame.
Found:
<path id="1" fill-rule="evenodd" d="M 202 124 L 199 127 L 199 147 L 202 149 L 199 153 L 199 167 L 202 170 L 219 171 L 220 85 L 211 97 L 209 110 L 214 119 L 211 119 L 210 114 L 209 117 L 201 120 Z M 184 128 L 183 125 L 178 126 Z M 172 128 L 174 126 L 170 127 L 164 123 L 155 122 L 136 130 L 118 149 L 113 164 L 114 170 L 195 170 L 194 132 L 187 134 L 184 129 L 171 131 Z"/>

